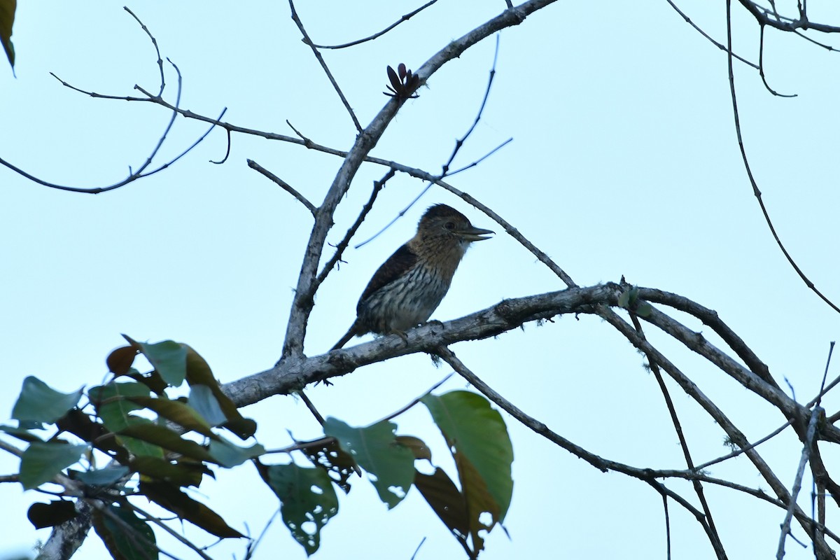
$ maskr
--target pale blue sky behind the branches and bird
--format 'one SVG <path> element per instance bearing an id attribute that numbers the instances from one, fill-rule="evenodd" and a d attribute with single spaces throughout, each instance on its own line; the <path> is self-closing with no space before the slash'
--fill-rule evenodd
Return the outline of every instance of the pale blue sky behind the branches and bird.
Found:
<path id="1" fill-rule="evenodd" d="M 417 7 L 408 2 L 301 3 L 312 39 L 340 43 L 391 24 Z M 723 3 L 681 2 L 707 33 L 725 40 Z M 308 48 L 286 3 L 237 6 L 137 3 L 130 8 L 181 69 L 181 106 L 251 128 L 291 134 L 289 119 L 320 144 L 348 149 L 355 131 Z M 386 102 L 386 65 L 417 68 L 449 39 L 499 13 L 503 2 L 441 0 L 392 34 L 354 50 L 325 55 L 363 125 Z M 840 22 L 840 13 L 812 19 Z M 736 9 L 735 44 L 758 58 L 758 29 Z M 120 5 L 106 2 L 20 3 L 13 40 L 17 79 L 0 65 L 3 134 L 0 157 L 62 184 L 105 186 L 140 165 L 169 115 L 147 104 L 96 100 L 60 86 L 134 95 L 135 83 L 157 86 L 154 51 Z M 439 71 L 407 102 L 373 154 L 438 171 L 475 118 L 493 57 L 487 40 Z M 835 301 L 837 290 L 837 54 L 768 32 L 765 64 L 772 97 L 757 72 L 737 64 L 744 139 L 769 212 L 803 270 Z M 167 67 L 167 96 L 176 76 Z M 160 156 L 171 157 L 204 130 L 179 118 Z M 785 263 L 753 198 L 732 126 L 727 60 L 666 2 L 556 3 L 501 34 L 486 112 L 455 165 L 514 141 L 453 184 L 492 207 L 551 255 L 580 285 L 617 281 L 688 296 L 718 311 L 799 400 L 816 392 L 837 314 Z M 267 369 L 281 352 L 291 290 L 311 227 L 291 196 L 249 170 L 253 159 L 318 203 L 339 160 L 297 145 L 234 136 L 225 165 L 216 131 L 178 162 L 144 181 L 99 196 L 54 191 L 0 169 L 0 372 L 8 417 L 26 375 L 60 390 L 97 385 L 104 358 L 120 332 L 141 340 L 172 338 L 196 348 L 224 382 Z M 161 160 L 162 161 L 162 160 Z M 337 242 L 385 170 L 363 167 L 336 216 Z M 368 238 L 423 187 L 397 175 L 360 231 Z M 445 202 L 483 228 L 490 218 L 446 192 L 432 190 L 407 216 L 360 250 L 345 255 L 338 274 L 318 292 L 307 353 L 326 351 L 349 326 L 365 283 L 411 237 L 425 207 Z M 563 285 L 506 235 L 470 249 L 433 318 L 448 320 Z M 699 324 L 680 317 L 691 327 Z M 648 335 L 727 411 L 748 437 L 785 419 L 701 359 Z M 592 452 L 636 466 L 683 468 L 662 396 L 643 359 L 611 327 L 593 317 L 563 317 L 496 340 L 462 343 L 459 358 L 514 404 Z M 328 415 L 351 424 L 386 416 L 436 383 L 449 369 L 412 356 L 360 369 L 335 386 L 311 391 Z M 458 378 L 447 389 L 463 388 Z M 697 463 L 726 453 L 723 432 L 672 387 Z M 837 410 L 837 398 L 824 403 Z M 314 437 L 305 408 L 276 397 L 244 410 L 260 422 L 266 447 Z M 517 425 L 505 415 L 516 459 L 507 516 L 511 540 L 494 531 L 486 560 L 510 557 L 664 557 L 661 500 L 647 485 L 601 474 Z M 399 420 L 400 432 L 446 449 L 425 410 Z M 799 447 L 790 433 L 764 448 L 777 474 L 792 484 Z M 827 449 L 829 468 L 837 459 Z M 0 455 L 0 474 L 17 461 Z M 745 459 L 712 474 L 764 486 Z M 276 510 L 274 495 L 253 468 L 219 471 L 202 484 L 208 503 L 233 526 L 258 534 Z M 686 484 L 669 487 L 691 497 Z M 810 484 L 810 483 L 809 483 Z M 810 488 L 810 486 L 809 486 Z M 732 491 L 707 488 L 717 526 L 732 558 L 771 557 L 784 512 Z M 0 486 L 6 511 L 3 549 L 31 547 L 25 510 L 42 497 L 17 484 Z M 810 510 L 807 500 L 802 505 Z M 701 528 L 671 505 L 675 557 L 711 557 Z M 837 515 L 832 507 L 829 521 Z M 213 539 L 189 530 L 201 544 Z M 743 538 L 749 534 L 748 539 Z M 802 537 L 801 531 L 797 536 Z M 386 511 L 363 481 L 341 499 L 339 516 L 322 533 L 317 558 L 461 557 L 452 536 L 413 491 Z M 171 539 L 161 545 L 190 557 Z M 304 558 L 279 521 L 255 558 Z M 244 543 L 211 549 L 241 558 Z M 107 553 L 95 536 L 77 557 Z M 812 557 L 795 544 L 789 558 Z"/>

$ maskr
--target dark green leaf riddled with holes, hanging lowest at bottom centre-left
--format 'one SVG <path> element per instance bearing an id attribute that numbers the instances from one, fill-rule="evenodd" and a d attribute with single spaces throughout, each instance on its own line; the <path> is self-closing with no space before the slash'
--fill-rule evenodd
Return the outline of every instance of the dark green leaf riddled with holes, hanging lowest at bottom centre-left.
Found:
<path id="1" fill-rule="evenodd" d="M 326 471 L 314 467 L 260 465 L 266 484 L 280 498 L 280 513 L 291 536 L 306 550 L 318 551 L 321 529 L 339 513 L 339 498 Z M 314 530 L 310 527 L 314 525 Z"/>

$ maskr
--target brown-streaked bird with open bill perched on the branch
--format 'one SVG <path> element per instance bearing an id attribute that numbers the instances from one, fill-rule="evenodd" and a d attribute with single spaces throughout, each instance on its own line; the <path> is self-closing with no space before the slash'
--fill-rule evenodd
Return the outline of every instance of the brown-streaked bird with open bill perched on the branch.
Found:
<path id="1" fill-rule="evenodd" d="M 332 349 L 366 332 L 406 338 L 408 329 L 426 322 L 440 305 L 470 243 L 489 233 L 452 207 L 429 207 L 414 237 L 376 270 L 359 298 L 355 322 Z"/>

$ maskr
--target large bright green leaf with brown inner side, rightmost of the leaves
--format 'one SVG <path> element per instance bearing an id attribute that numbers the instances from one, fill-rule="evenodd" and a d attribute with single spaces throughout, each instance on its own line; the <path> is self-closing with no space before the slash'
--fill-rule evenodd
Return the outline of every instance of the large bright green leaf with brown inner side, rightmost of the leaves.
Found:
<path id="1" fill-rule="evenodd" d="M 452 391 L 445 395 L 426 395 L 421 399 L 434 422 L 454 448 L 461 487 L 470 506 L 470 515 L 480 514 L 470 504 L 470 492 L 484 490 L 497 508 L 491 511 L 493 524 L 504 520 L 511 505 L 513 446 L 505 421 L 483 396 L 470 391 Z M 473 479 L 473 476 L 477 479 Z M 472 496 L 475 498 L 476 496 Z M 486 500 L 480 500 L 486 505 Z"/>

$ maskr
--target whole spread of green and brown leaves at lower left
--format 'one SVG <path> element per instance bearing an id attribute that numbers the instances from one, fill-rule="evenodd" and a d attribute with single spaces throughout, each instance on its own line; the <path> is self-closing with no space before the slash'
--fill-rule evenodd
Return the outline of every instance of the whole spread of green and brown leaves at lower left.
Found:
<path id="1" fill-rule="evenodd" d="M 55 500 L 29 508 L 37 528 L 72 521 L 77 502 L 86 500 L 97 535 L 116 560 L 155 558 L 160 549 L 152 524 L 164 524 L 139 509 L 135 499 L 143 497 L 210 535 L 244 537 L 191 494 L 216 469 L 248 461 L 280 500 L 283 522 L 307 555 L 318 551 L 321 530 L 339 512 L 335 488 L 348 493 L 353 474 L 364 473 L 388 509 L 416 487 L 469 557 L 478 556 L 485 533 L 507 514 L 512 444 L 501 415 L 481 395 L 458 390 L 418 400 L 452 453 L 458 485 L 432 463 L 423 440 L 398 435 L 391 420 L 352 427 L 329 417 L 324 437 L 280 450 L 287 463 L 267 464 L 270 453 L 259 442 L 240 445 L 223 436 L 251 440 L 257 425 L 239 413 L 195 350 L 173 341 L 126 340 L 106 359 L 112 376 L 104 385 L 62 393 L 36 377 L 24 379 L 12 413 L 18 426 L 0 427 L 28 444 L 18 474 L 24 489 L 63 486 Z M 153 369 L 134 368 L 139 354 Z M 185 381 L 187 396 L 169 395 Z"/>

